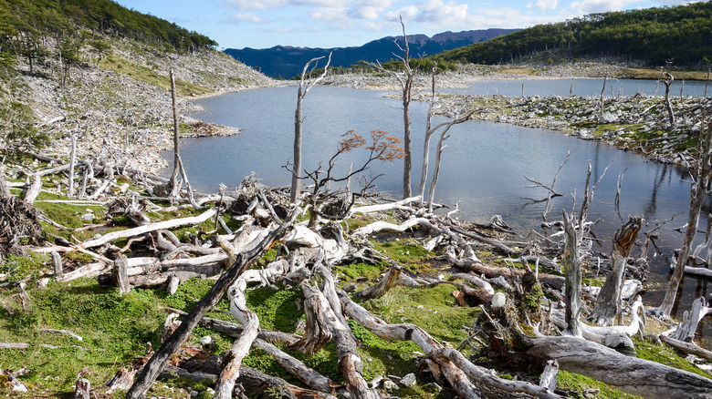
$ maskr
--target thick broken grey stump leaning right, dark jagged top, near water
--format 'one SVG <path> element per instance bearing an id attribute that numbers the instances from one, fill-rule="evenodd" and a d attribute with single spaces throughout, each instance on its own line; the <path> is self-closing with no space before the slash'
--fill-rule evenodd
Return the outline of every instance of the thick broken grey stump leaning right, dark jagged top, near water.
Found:
<path id="1" fill-rule="evenodd" d="M 601 292 L 598 294 L 596 306 L 593 308 L 592 320 L 600 325 L 613 324 L 616 315 L 622 314 L 621 292 L 623 291 L 623 275 L 628 256 L 633 250 L 633 244 L 641 229 L 641 219 L 632 217 L 616 231 L 613 239 L 611 263 L 613 271 L 606 277 Z"/>

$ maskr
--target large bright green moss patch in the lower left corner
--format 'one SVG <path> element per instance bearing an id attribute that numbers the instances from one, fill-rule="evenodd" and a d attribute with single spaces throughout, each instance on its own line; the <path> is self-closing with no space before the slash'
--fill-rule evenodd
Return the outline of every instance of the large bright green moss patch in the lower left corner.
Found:
<path id="1" fill-rule="evenodd" d="M 72 393 L 71 385 L 84 367 L 91 370 L 92 385 L 104 384 L 118 367 L 145 353 L 146 343 L 154 347 L 160 343 L 165 313 L 152 291 L 132 290 L 120 296 L 94 279 L 50 282 L 45 288 L 28 285 L 26 291 L 31 298 L 27 310 L 19 304 L 12 314 L 0 310 L 0 342 L 29 343 L 30 348 L 2 351 L 0 363 L 7 369 L 31 370 L 22 381 L 37 386 L 33 395 Z M 11 306 L 15 293 L 3 291 L 0 297 Z M 41 332 L 42 328 L 67 329 L 83 339 Z"/>

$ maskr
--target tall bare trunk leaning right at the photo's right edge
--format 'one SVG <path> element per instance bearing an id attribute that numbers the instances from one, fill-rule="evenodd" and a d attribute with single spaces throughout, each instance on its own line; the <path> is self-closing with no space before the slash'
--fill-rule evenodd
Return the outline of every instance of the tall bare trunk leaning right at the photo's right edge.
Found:
<path id="1" fill-rule="evenodd" d="M 669 318 L 670 313 L 673 311 L 677 288 L 680 285 L 680 281 L 682 281 L 683 274 L 685 274 L 685 265 L 692 251 L 693 240 L 695 240 L 699 214 L 710 192 L 709 183 L 710 179 L 712 179 L 712 158 L 710 157 L 712 157 L 712 123 L 707 124 L 707 131 L 703 128 L 699 132 L 695 176 L 693 176 L 692 186 L 690 187 L 690 213 L 687 218 L 685 239 L 677 256 L 673 277 L 667 283 L 665 298 L 657 309 L 657 312 L 666 318 Z"/>

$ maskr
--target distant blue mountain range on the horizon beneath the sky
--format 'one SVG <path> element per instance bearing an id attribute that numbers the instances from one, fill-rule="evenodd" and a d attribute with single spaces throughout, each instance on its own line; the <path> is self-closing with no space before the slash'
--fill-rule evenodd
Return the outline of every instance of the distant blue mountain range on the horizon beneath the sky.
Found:
<path id="1" fill-rule="evenodd" d="M 507 35 L 518 29 L 487 29 L 468 30 L 465 32 L 444 32 L 433 37 L 425 35 L 408 36 L 408 45 L 414 56 L 432 56 L 445 50 L 469 46 L 473 43 L 484 42 L 493 37 Z M 331 55 L 331 65 L 334 67 L 351 67 L 360 60 L 388 61 L 393 58 L 393 53 L 400 50 L 394 40 L 403 44 L 403 36 L 383 37 L 373 40 L 359 47 L 334 47 L 334 48 L 309 48 L 274 46 L 272 48 L 228 48 L 225 53 L 233 56 L 238 61 L 256 69 L 269 77 L 295 77 L 302 72 L 304 64 L 309 59 L 317 56 Z M 320 64 L 323 66 L 323 62 Z"/>

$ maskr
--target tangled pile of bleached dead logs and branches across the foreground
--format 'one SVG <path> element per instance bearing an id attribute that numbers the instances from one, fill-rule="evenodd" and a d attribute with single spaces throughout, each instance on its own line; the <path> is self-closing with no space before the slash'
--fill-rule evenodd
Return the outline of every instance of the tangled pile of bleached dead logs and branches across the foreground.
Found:
<path id="1" fill-rule="evenodd" d="M 116 186 L 114 176 L 105 179 L 109 181 L 106 187 Z M 141 178 L 146 179 L 146 176 L 134 175 L 137 181 Z M 143 182 L 146 186 L 152 183 L 148 179 Z M 99 189 L 100 186 L 92 190 L 98 192 Z M 638 311 L 643 305 L 636 299 L 634 289 L 640 282 L 631 279 L 631 269 L 644 261 L 631 263 L 628 259 L 639 220 L 631 220 L 616 236 L 616 252 L 608 257 L 610 261 L 600 261 L 592 251 L 592 223 L 585 220 L 586 204 L 592 196 L 588 190 L 581 214 L 571 218 L 564 215 L 562 221 L 551 221 L 547 235 L 539 240 L 515 239 L 507 225 L 497 218 L 488 225 L 475 225 L 454 219 L 453 212 L 434 215 L 419 197 L 349 207 L 346 212 L 338 212 L 341 217 L 359 214 L 372 218 L 371 223 L 348 230 L 349 224 L 342 223 L 338 217 L 322 219 L 319 216 L 326 214 L 323 209 L 326 205 L 320 204 L 320 199 L 304 201 L 308 207 L 318 208 L 312 212 L 310 220 L 296 223 L 298 214 L 306 209 L 291 204 L 288 193 L 267 189 L 257 184 L 254 178 L 246 179 L 234 196 L 225 195 L 224 191 L 211 196 L 195 193 L 195 202 L 199 206 L 210 203 L 217 206 L 200 210 L 195 216 L 173 220 L 152 221 L 145 211 L 180 210 L 190 205 L 161 207 L 153 202 L 160 198 L 141 197 L 130 189 L 125 192 L 131 193 L 131 197 L 105 204 L 109 209 L 107 215 L 113 219 L 126 216 L 135 227 L 99 234 L 90 240 L 58 241 L 52 246 L 32 249 L 46 253 L 79 251 L 88 254 L 94 259 L 93 263 L 69 272 L 62 270 L 62 260 L 58 256 L 57 279 L 69 281 L 94 276 L 103 284 L 119 286 L 120 292 L 138 287 L 165 287 L 169 292 L 175 292 L 179 284 L 193 277 L 216 280 L 211 292 L 195 305 L 192 312 L 180 315 L 183 316 L 180 325 L 167 322 L 164 342 L 155 353 L 148 353 L 140 362 L 120 369 L 110 389 L 129 389 L 127 397 L 143 397 L 152 382 L 164 375 L 161 374 L 164 367 L 168 367 L 170 373 L 215 384 L 216 397 L 233 394 L 267 397 L 277 391 L 282 397 L 298 398 L 382 397 L 386 388 L 372 384 L 363 376 L 364 360 L 358 350 L 362 343 L 351 331 L 349 319 L 384 340 L 412 341 L 418 345 L 423 353 L 418 359 L 420 369 L 427 371 L 437 384 L 461 397 L 561 397 L 566 393 L 551 388 L 556 380 L 553 361 L 562 370 L 588 375 L 645 397 L 705 397 L 712 393 L 712 380 L 616 352 L 634 353 L 630 336 L 642 331 L 643 319 L 638 317 Z M 331 195 L 330 199 L 334 197 L 338 196 Z M 374 216 L 383 211 L 391 211 L 394 219 L 378 220 L 379 217 Z M 225 213 L 241 221 L 238 230 L 231 231 L 220 222 Z M 179 240 L 173 231 L 197 224 L 201 224 L 203 230 L 187 234 L 183 240 Z M 312 224 L 315 227 L 310 228 Z M 204 229 L 206 225 L 211 228 Z M 431 261 L 437 262 L 440 271 L 449 278 L 409 271 L 372 248 L 370 239 L 391 234 L 410 236 L 428 251 L 437 253 Z M 126 243 L 118 246 L 119 239 Z M 271 247 L 278 249 L 276 259 L 261 270 L 250 269 Z M 480 260 L 477 252 L 482 250 L 495 251 L 506 257 L 506 266 Z M 127 258 L 127 254 L 140 256 Z M 615 271 L 611 281 L 607 282 L 613 284 L 611 290 L 597 292 L 581 287 L 581 265 L 593 260 L 602 264 L 603 270 Z M 346 290 L 352 292 L 349 294 L 338 288 L 334 276 L 335 268 L 351 261 L 391 266 L 383 271 L 381 281 L 360 292 Z M 561 275 L 562 270 L 566 274 Z M 257 315 L 245 302 L 248 282 L 250 286 L 257 283 L 258 286 L 281 289 L 299 287 L 304 293 L 300 305 L 306 314 L 304 335 L 259 330 Z M 455 348 L 438 342 L 421 326 L 384 322 L 377 314 L 368 312 L 352 300 L 355 297 L 361 301 L 378 298 L 398 284 L 409 287 L 448 284 L 453 286 L 455 298 L 462 306 L 478 304 L 483 312 L 473 321 L 470 338 Z M 633 290 L 627 287 L 633 287 Z M 229 293 L 231 312 L 241 324 L 204 317 L 225 293 Z M 544 293 L 549 300 L 544 300 Z M 599 295 L 605 298 L 598 302 L 597 309 L 602 307 L 602 310 L 596 314 L 605 314 L 604 324 L 614 325 L 598 327 L 581 322 L 586 304 L 595 303 Z M 629 322 L 620 318 L 626 304 L 633 309 Z M 695 325 L 680 328 L 694 331 L 696 322 L 707 314 L 707 309 L 702 303 L 698 312 L 689 317 Z M 177 317 L 179 315 L 169 316 L 169 321 Z M 235 345 L 219 357 L 190 347 L 185 340 L 198 323 L 236 336 Z M 673 344 L 682 342 L 675 337 L 684 333 L 668 335 L 665 342 Z M 330 342 L 336 345 L 343 384 L 309 369 L 278 346 L 289 343 L 292 350 L 314 353 Z M 244 367 L 242 359 L 250 347 L 270 353 L 305 387 L 287 384 Z M 461 351 L 466 347 L 476 354 L 471 358 L 463 354 Z M 180 356 L 174 356 L 176 353 Z M 488 359 L 487 367 L 506 367 L 525 378 L 509 381 L 497 377 L 490 368 L 473 362 L 483 355 Z M 179 362 L 178 358 L 182 360 Z M 166 366 L 166 362 L 170 364 Z M 548 372 L 542 375 L 539 384 L 539 374 L 545 368 Z M 628 369 L 636 372 L 625 372 Z M 616 371 L 602 373 L 601 370 Z M 658 375 L 667 383 L 665 386 L 657 384 L 647 375 Z"/>

